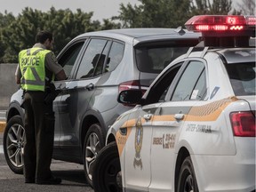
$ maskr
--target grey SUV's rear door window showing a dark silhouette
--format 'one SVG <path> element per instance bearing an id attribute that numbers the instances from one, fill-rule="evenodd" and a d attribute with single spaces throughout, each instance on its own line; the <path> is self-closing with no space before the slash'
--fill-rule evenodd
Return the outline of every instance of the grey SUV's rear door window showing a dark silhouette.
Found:
<path id="1" fill-rule="evenodd" d="M 100 75 L 109 46 L 106 39 L 92 39 L 84 52 L 76 79 Z"/>

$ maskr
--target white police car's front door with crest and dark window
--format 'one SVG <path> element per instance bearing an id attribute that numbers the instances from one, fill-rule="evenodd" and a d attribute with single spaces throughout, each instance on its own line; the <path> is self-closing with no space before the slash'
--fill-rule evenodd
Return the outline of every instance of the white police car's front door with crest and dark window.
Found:
<path id="1" fill-rule="evenodd" d="M 129 116 L 132 132 L 125 144 L 125 188 L 148 191 L 152 178 L 152 158 L 162 158 L 151 154 L 152 143 L 160 143 L 162 140 L 162 138 L 152 140 L 152 121 L 154 122 L 156 116 L 161 114 L 164 97 L 180 66 L 180 63 L 173 66 L 164 76 L 159 77 L 150 86 L 145 99 L 146 105 L 136 107 Z"/>

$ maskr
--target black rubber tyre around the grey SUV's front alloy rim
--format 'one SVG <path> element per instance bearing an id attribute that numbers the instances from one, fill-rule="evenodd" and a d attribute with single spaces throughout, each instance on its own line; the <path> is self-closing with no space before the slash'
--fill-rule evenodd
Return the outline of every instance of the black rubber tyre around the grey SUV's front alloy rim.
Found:
<path id="1" fill-rule="evenodd" d="M 8 166 L 10 167 L 12 172 L 17 173 L 17 174 L 22 174 L 23 173 L 23 164 L 19 164 L 19 166 L 13 164 L 12 161 L 10 160 L 10 158 L 9 158 L 8 151 L 7 151 L 8 134 L 13 132 L 12 131 L 12 126 L 14 126 L 14 127 L 21 126 L 21 128 L 24 127 L 21 116 L 12 116 L 12 118 L 6 124 L 6 127 L 4 129 L 4 141 L 3 141 L 4 142 L 3 143 L 4 144 L 3 145 L 4 146 L 4 157 L 5 157 L 6 163 L 8 164 Z M 25 136 L 24 128 L 23 128 L 22 135 Z M 16 138 L 14 138 L 14 139 L 16 139 Z M 24 140 L 22 140 L 21 138 L 18 138 L 18 140 L 22 143 L 22 146 L 23 146 Z"/>

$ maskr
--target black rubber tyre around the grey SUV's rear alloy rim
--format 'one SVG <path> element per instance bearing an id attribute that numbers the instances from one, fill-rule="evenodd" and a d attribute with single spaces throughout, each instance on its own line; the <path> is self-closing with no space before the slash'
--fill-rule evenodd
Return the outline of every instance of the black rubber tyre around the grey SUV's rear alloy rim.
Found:
<path id="1" fill-rule="evenodd" d="M 104 131 L 102 130 L 102 128 L 100 127 L 100 124 L 92 124 L 89 129 L 88 132 L 86 132 L 85 138 L 84 138 L 84 174 L 85 174 L 85 180 L 87 181 L 87 183 L 92 187 L 92 179 L 89 177 L 89 172 L 87 171 L 86 168 L 86 154 L 85 154 L 85 150 L 88 147 L 88 140 L 90 140 L 90 137 L 93 135 L 97 135 L 97 138 L 99 140 L 99 145 L 97 146 L 97 148 L 95 148 L 96 151 L 94 151 L 94 157 L 97 156 L 97 153 L 100 152 L 100 149 L 104 147 L 105 145 L 105 134 Z M 92 158 L 94 158 L 92 157 Z M 94 163 L 92 163 L 94 164 Z M 91 172 L 92 173 L 92 172 Z"/>

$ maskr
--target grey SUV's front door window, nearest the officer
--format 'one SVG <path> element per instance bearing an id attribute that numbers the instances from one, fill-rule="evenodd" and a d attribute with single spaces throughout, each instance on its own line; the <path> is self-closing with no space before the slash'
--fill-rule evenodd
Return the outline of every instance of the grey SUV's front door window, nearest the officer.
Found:
<path id="1" fill-rule="evenodd" d="M 58 62 L 63 67 L 67 76 L 70 76 L 71 70 L 75 64 L 76 58 L 84 45 L 83 42 L 79 42 L 68 47 L 68 50 L 64 52 L 59 58 Z"/>

